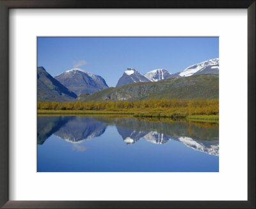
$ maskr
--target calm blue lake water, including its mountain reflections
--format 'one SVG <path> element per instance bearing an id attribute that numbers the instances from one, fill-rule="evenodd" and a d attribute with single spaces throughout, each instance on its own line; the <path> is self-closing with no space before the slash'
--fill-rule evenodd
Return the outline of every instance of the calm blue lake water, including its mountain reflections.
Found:
<path id="1" fill-rule="evenodd" d="M 38 116 L 38 172 L 218 172 L 216 123 Z"/>

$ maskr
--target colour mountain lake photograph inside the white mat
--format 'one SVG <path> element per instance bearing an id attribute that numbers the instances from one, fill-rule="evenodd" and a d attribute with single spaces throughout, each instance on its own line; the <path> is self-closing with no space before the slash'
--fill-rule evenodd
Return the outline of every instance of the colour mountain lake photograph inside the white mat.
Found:
<path id="1" fill-rule="evenodd" d="M 218 37 L 38 37 L 37 52 L 37 172 L 219 171 Z"/>

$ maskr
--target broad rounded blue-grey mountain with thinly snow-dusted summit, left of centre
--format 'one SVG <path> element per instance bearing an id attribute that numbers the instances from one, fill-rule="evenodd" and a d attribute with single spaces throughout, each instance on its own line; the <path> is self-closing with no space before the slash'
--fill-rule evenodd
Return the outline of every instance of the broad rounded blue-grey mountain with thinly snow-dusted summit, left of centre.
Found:
<path id="1" fill-rule="evenodd" d="M 79 68 L 70 69 L 56 75 L 54 78 L 77 95 L 82 93 L 92 94 L 98 90 L 108 88 L 104 78 Z"/>

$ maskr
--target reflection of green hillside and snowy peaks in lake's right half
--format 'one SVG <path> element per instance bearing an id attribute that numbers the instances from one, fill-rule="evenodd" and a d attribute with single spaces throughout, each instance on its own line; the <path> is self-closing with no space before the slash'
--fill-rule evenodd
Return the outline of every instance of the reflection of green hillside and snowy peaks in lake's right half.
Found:
<path id="1" fill-rule="evenodd" d="M 108 124 L 115 124 L 125 143 L 131 145 L 141 138 L 156 144 L 170 140 L 180 141 L 187 147 L 207 154 L 219 154 L 218 124 L 203 122 L 173 122 L 160 119 L 97 117 Z"/>

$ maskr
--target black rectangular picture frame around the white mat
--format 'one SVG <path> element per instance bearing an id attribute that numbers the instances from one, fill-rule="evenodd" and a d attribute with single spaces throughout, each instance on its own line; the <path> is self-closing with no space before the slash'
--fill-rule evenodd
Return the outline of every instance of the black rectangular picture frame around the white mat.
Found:
<path id="1" fill-rule="evenodd" d="M 0 206 L 3 208 L 255 208 L 255 5 L 255 0 L 0 0 Z M 10 8 L 246 8 L 248 11 L 248 201 L 9 201 L 8 11 Z"/>

